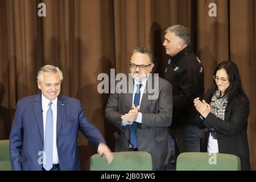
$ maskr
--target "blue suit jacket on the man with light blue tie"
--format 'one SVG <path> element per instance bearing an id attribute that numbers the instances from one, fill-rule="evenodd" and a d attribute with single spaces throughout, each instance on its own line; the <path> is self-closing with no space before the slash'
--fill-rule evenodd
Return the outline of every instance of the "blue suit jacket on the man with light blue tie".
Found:
<path id="1" fill-rule="evenodd" d="M 95 148 L 105 143 L 100 131 L 85 117 L 80 101 L 59 95 L 57 100 L 57 152 L 61 170 L 79 170 L 78 130 Z M 42 170 L 39 158 L 44 147 L 42 93 L 25 97 L 16 105 L 10 133 L 10 156 L 13 170 Z"/>

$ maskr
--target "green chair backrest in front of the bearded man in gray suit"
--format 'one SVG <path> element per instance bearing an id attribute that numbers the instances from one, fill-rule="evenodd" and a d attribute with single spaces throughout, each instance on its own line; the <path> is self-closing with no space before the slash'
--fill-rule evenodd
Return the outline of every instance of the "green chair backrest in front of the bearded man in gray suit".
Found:
<path id="1" fill-rule="evenodd" d="M 98 154 L 92 155 L 89 159 L 90 171 L 152 171 L 152 158 L 148 152 L 129 151 L 113 154 L 111 164 Z"/>

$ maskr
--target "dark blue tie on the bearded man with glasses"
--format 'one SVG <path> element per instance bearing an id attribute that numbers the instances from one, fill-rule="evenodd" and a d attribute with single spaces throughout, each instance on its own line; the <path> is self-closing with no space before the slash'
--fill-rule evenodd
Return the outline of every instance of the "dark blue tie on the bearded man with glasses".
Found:
<path id="1" fill-rule="evenodd" d="M 141 86 L 142 84 L 137 85 L 137 91 L 135 93 L 134 101 L 133 101 L 133 104 L 135 105 L 135 107 L 139 105 L 139 100 L 141 99 L 141 90 L 140 90 Z M 133 147 L 137 147 L 136 128 L 137 128 L 137 122 L 133 122 L 133 124 L 131 125 L 131 145 Z"/>

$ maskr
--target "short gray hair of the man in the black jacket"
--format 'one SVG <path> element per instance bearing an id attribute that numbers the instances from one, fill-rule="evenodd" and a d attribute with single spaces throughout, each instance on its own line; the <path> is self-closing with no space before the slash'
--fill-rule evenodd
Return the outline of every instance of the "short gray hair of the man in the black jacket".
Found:
<path id="1" fill-rule="evenodd" d="M 188 28 L 180 24 L 175 24 L 174 26 L 168 27 L 166 29 L 166 33 L 167 32 L 173 33 L 175 36 L 182 39 L 186 45 L 190 44 L 190 33 Z"/>

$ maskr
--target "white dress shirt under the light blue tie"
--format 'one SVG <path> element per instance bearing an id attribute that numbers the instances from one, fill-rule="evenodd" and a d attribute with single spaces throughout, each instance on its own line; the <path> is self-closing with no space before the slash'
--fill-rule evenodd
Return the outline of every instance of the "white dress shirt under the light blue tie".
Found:
<path id="1" fill-rule="evenodd" d="M 43 109 L 43 123 L 44 123 L 44 137 L 46 136 L 46 115 L 49 109 L 49 102 L 52 102 L 52 114 L 53 114 L 53 154 L 52 154 L 52 163 L 59 164 L 59 156 L 57 151 L 57 142 L 56 142 L 56 131 L 57 131 L 57 97 L 53 101 L 49 101 L 44 97 L 42 93 L 42 109 Z"/>

